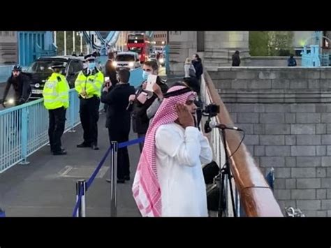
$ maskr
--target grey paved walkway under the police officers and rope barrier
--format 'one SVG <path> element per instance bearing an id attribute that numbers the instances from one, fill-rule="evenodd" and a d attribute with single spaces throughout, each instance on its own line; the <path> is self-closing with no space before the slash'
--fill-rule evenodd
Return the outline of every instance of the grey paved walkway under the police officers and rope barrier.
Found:
<path id="1" fill-rule="evenodd" d="M 77 148 L 82 142 L 82 128 L 65 133 L 62 145 L 66 156 L 52 156 L 45 146 L 29 156 L 27 166 L 16 165 L 0 174 L 0 207 L 6 217 L 71 217 L 75 206 L 75 182 L 88 180 L 109 147 L 105 114 L 98 121 L 100 150 Z M 130 140 L 135 139 L 130 134 Z M 140 217 L 131 193 L 135 168 L 140 156 L 138 145 L 128 147 L 131 181 L 117 184 L 117 216 Z M 87 217 L 110 217 L 110 156 L 87 191 Z"/>

